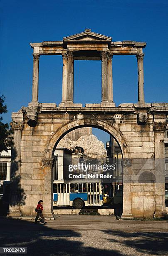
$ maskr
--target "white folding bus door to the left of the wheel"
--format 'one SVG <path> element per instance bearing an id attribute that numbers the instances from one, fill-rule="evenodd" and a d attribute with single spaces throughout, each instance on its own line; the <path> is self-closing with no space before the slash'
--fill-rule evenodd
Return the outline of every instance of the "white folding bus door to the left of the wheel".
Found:
<path id="1" fill-rule="evenodd" d="M 69 184 L 58 184 L 58 205 L 69 206 Z"/>

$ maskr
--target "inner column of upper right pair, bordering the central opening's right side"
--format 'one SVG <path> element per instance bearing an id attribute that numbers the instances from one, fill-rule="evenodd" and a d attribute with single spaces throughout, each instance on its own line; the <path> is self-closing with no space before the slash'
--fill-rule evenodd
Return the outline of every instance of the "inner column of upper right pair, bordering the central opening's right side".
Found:
<path id="1" fill-rule="evenodd" d="M 101 53 L 101 102 L 108 103 L 108 67 L 107 67 L 107 51 Z"/>

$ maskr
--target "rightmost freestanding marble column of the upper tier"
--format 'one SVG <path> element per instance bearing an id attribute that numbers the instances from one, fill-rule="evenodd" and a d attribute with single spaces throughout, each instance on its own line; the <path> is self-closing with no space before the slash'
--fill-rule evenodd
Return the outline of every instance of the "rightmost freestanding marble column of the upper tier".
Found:
<path id="1" fill-rule="evenodd" d="M 143 56 L 144 54 L 136 54 L 138 61 L 138 102 L 144 103 L 144 77 L 143 77 Z"/>

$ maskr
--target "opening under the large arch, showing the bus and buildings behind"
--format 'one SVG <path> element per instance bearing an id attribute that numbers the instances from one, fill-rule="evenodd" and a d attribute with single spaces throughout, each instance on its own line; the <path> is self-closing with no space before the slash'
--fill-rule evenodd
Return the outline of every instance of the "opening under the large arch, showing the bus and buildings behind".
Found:
<path id="1" fill-rule="evenodd" d="M 96 136 L 92 133 L 92 128 L 97 128 L 105 133 L 109 134 L 109 140 L 99 141 Z M 79 130 L 86 131 L 85 133 L 78 133 Z M 71 135 L 71 136 L 70 136 Z M 91 136 L 94 139 L 97 139 L 100 142 L 99 145 L 104 145 L 104 149 L 101 148 L 99 151 L 95 148 L 95 152 L 87 151 L 89 144 L 86 143 L 87 137 L 89 143 L 91 142 Z M 94 137 L 95 138 L 94 138 Z M 82 139 L 80 139 L 82 137 Z M 84 137 L 84 138 L 83 138 Z M 66 139 L 65 139 L 66 138 Z M 71 140 L 70 140 L 71 138 Z M 85 140 L 85 145 L 82 148 L 82 141 Z M 71 141 L 72 143 L 69 143 Z M 111 145 L 112 144 L 112 145 Z M 96 144 L 97 145 L 97 144 Z M 70 146 L 74 146 L 71 147 Z M 101 146 L 98 146 L 100 148 Z M 117 148 L 117 152 L 115 151 Z M 104 151 L 103 151 L 104 150 Z M 114 150 L 114 151 L 113 151 Z M 70 152 L 72 151 L 72 152 Z M 103 152 L 103 153 L 102 153 Z M 68 157 L 67 157 L 68 155 Z M 66 156 L 66 157 L 64 157 Z M 120 156 L 120 157 L 119 157 Z M 76 209 L 88 209 L 88 207 L 110 208 L 114 212 L 120 212 L 122 214 L 122 205 L 123 205 L 123 172 L 121 167 L 121 159 L 123 158 L 123 152 L 120 144 L 110 132 L 107 132 L 105 128 L 98 128 L 98 125 L 80 125 L 73 128 L 69 128 L 67 131 L 64 131 L 61 136 L 57 139 L 52 150 L 52 158 L 56 159 L 56 164 L 54 165 L 53 176 L 54 176 L 54 187 L 53 187 L 53 198 L 55 201 L 53 203 L 54 208 L 57 207 L 74 207 Z M 66 159 L 65 159 L 66 158 Z M 114 165 L 115 169 L 112 173 L 110 179 L 100 179 L 101 172 L 93 172 L 92 169 L 86 170 L 86 174 L 89 176 L 67 179 L 67 176 L 64 173 L 64 168 L 66 169 L 70 163 L 81 164 L 82 162 L 86 165 L 91 161 L 92 166 L 96 163 Z M 65 166 L 65 167 L 64 167 Z M 90 167 L 89 167 L 90 168 Z M 59 169 L 62 169 L 62 173 L 59 173 Z M 120 170 L 119 170 L 120 169 Z M 95 169 L 94 169 L 95 171 Z M 107 171 L 107 170 L 106 170 Z M 74 172 L 72 175 L 81 175 L 84 173 L 84 170 Z M 106 176 L 111 174 L 108 170 Z M 92 176 L 91 176 L 92 175 Z M 98 175 L 98 176 L 97 176 Z M 119 179 L 120 175 L 120 179 Z M 93 179 L 92 179 L 93 177 Z M 119 215 L 119 213 L 118 213 Z"/>

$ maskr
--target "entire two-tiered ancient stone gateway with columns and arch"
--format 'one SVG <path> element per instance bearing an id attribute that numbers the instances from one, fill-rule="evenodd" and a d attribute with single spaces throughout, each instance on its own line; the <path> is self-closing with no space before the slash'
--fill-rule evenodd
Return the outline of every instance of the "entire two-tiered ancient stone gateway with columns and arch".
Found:
<path id="1" fill-rule="evenodd" d="M 30 44 L 34 50 L 32 102 L 12 113 L 15 131 L 12 149 L 9 216 L 35 215 L 39 199 L 45 215 L 53 216 L 52 164 L 55 145 L 69 131 L 91 126 L 111 134 L 122 151 L 122 218 L 161 217 L 165 211 L 164 131 L 168 103 L 145 103 L 143 93 L 143 48 L 146 43 L 112 42 L 112 38 L 84 32 Z M 62 55 L 62 102 L 38 102 L 40 55 Z M 138 103 L 113 101 L 112 57 L 135 55 L 138 61 Z M 102 61 L 102 100 L 99 104 L 74 104 L 75 60 Z"/>

